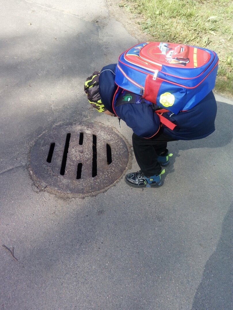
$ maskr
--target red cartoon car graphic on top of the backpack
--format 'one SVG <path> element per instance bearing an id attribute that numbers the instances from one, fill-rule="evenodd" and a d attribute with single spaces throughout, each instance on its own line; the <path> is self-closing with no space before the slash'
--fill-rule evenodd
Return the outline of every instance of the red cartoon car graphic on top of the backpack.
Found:
<path id="1" fill-rule="evenodd" d="M 171 47 L 169 43 L 160 42 L 159 49 L 169 64 L 182 64 L 186 66 L 189 63 L 189 47 L 187 45 L 177 45 Z"/>

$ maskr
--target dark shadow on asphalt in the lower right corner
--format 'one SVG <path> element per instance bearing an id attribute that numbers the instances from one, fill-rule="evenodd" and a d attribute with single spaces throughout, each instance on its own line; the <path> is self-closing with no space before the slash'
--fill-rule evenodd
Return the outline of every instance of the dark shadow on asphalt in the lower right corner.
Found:
<path id="1" fill-rule="evenodd" d="M 223 222 L 216 250 L 208 259 L 202 281 L 196 291 L 192 310 L 233 309 L 232 302 L 232 223 L 233 208 Z"/>

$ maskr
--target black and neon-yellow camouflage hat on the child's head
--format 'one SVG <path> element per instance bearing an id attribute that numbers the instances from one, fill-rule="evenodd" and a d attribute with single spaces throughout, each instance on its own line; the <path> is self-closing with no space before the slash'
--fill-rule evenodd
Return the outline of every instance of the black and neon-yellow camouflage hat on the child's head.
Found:
<path id="1" fill-rule="evenodd" d="M 99 95 L 99 71 L 95 71 L 90 77 L 86 79 L 84 84 L 84 91 L 87 94 L 89 103 L 97 109 L 98 112 L 106 111 L 100 95 Z"/>

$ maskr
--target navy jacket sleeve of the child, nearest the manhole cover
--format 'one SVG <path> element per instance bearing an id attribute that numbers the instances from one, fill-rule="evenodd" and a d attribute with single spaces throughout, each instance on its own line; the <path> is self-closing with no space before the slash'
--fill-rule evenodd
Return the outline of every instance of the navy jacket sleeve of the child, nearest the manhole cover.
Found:
<path id="1" fill-rule="evenodd" d="M 116 108 L 116 113 L 140 137 L 151 138 L 160 128 L 159 117 L 150 104 L 122 104 Z"/>

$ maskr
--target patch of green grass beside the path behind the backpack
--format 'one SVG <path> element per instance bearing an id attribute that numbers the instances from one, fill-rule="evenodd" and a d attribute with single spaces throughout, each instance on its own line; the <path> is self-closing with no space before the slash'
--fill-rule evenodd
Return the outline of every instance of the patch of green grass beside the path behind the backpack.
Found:
<path id="1" fill-rule="evenodd" d="M 232 0 L 124 0 L 150 41 L 206 47 L 217 53 L 215 90 L 233 95 Z"/>

